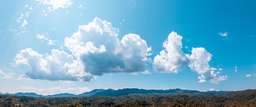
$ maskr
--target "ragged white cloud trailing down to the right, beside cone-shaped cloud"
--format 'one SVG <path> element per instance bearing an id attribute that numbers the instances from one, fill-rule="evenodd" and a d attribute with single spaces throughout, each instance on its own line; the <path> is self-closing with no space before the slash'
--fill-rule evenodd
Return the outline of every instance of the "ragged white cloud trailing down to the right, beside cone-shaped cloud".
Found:
<path id="1" fill-rule="evenodd" d="M 209 80 L 213 84 L 218 84 L 222 80 L 226 80 L 228 77 L 220 76 L 219 73 L 214 73 L 216 68 L 210 67 L 209 62 L 212 59 L 212 54 L 207 52 L 204 48 L 192 48 L 192 54 L 186 54 L 190 59 L 189 67 L 192 71 L 196 71 L 200 77 L 198 79 L 201 81 Z"/>

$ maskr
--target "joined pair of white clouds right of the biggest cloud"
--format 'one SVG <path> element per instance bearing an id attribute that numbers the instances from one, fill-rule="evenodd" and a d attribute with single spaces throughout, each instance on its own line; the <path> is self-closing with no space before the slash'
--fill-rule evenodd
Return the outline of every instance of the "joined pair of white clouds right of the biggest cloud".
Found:
<path id="1" fill-rule="evenodd" d="M 179 69 L 184 68 L 187 64 L 192 71 L 196 71 L 198 82 L 206 82 L 218 84 L 222 80 L 226 80 L 227 76 L 220 76 L 219 71 L 214 67 L 209 66 L 212 54 L 204 48 L 192 48 L 192 54 L 184 54 L 182 50 L 182 36 L 176 32 L 169 34 L 167 40 L 163 43 L 165 50 L 157 55 L 153 62 L 153 68 L 160 73 L 178 73 Z M 222 69 L 219 69 L 222 70 Z"/>

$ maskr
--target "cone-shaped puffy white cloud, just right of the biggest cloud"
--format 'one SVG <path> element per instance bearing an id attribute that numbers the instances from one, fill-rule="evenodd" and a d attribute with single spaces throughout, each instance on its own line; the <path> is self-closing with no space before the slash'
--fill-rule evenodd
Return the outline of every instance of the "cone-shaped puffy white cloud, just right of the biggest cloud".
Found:
<path id="1" fill-rule="evenodd" d="M 182 49 L 182 36 L 176 32 L 171 32 L 168 39 L 163 43 L 165 50 L 157 55 L 153 62 L 155 71 L 160 73 L 178 73 L 179 69 L 184 68 L 189 60 Z"/>

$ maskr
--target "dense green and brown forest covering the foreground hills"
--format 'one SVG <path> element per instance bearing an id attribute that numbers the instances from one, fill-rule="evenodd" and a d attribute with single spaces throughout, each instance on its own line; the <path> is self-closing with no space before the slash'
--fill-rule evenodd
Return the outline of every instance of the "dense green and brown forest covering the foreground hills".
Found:
<path id="1" fill-rule="evenodd" d="M 0 107 L 256 107 L 256 90 L 218 94 L 28 97 L 0 95 Z"/>

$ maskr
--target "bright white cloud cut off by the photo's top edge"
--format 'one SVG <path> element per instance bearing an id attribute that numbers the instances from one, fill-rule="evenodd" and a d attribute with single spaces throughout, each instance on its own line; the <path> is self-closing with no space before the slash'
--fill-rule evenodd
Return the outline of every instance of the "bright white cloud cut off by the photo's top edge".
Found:
<path id="1" fill-rule="evenodd" d="M 49 11 L 57 10 L 58 8 L 67 8 L 73 4 L 71 0 L 36 0 L 39 4 L 50 5 Z"/>

